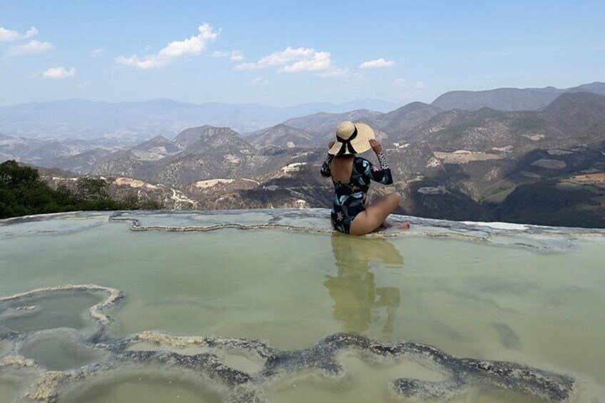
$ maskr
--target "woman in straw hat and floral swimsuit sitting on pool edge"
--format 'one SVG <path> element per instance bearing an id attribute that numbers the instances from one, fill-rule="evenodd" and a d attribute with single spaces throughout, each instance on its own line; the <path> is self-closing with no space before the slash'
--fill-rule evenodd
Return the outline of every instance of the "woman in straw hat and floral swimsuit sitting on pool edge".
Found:
<path id="1" fill-rule="evenodd" d="M 332 226 L 341 233 L 363 235 L 387 227 L 386 218 L 399 204 L 397 193 L 388 193 L 375 203 L 366 205 L 370 180 L 383 185 L 393 183 L 393 177 L 382 146 L 375 140 L 374 131 L 364 123 L 344 121 L 336 128 L 336 141 L 330 143 L 321 174 L 332 177 L 334 203 L 332 203 Z M 380 162 L 376 168 L 365 158 L 355 154 L 372 148 Z M 410 228 L 410 223 L 398 225 Z"/>

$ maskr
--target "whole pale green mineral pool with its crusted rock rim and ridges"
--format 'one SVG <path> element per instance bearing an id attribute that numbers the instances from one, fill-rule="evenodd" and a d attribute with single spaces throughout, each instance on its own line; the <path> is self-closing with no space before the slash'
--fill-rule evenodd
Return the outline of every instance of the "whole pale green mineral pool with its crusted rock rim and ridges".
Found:
<path id="1" fill-rule="evenodd" d="M 327 210 L 0 221 L 0 402 L 603 402 L 605 232 Z"/>

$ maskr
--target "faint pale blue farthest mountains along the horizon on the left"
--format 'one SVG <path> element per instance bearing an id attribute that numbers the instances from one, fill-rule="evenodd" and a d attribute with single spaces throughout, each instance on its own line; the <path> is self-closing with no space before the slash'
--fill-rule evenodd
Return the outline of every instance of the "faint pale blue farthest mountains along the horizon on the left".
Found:
<path id="1" fill-rule="evenodd" d="M 169 99 L 108 103 L 68 99 L 0 106 L 0 132 L 26 138 L 108 138 L 142 141 L 173 137 L 185 128 L 202 125 L 230 127 L 240 133 L 320 111 L 340 113 L 360 105 L 382 110 L 395 104 L 377 100 L 349 103 L 307 103 L 273 107 L 259 104 L 183 103 Z"/>

